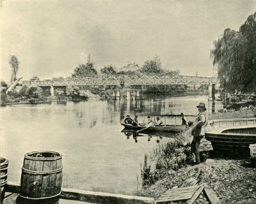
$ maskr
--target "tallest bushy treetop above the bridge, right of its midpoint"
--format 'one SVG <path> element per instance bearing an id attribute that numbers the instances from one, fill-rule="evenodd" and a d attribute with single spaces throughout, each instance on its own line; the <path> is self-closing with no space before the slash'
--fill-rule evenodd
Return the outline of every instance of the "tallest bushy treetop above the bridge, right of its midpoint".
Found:
<path id="1" fill-rule="evenodd" d="M 159 57 L 154 57 L 152 60 L 145 61 L 142 68 L 140 69 L 141 73 L 157 73 L 161 74 L 164 73 L 162 69 L 162 62 Z"/>

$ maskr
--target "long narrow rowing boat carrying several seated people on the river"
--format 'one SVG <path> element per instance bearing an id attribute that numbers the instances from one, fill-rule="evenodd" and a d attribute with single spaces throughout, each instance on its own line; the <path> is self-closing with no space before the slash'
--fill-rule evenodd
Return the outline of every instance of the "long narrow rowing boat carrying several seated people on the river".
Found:
<path id="1" fill-rule="evenodd" d="M 139 131 L 141 129 L 147 128 L 147 124 L 141 124 L 141 123 L 138 126 L 134 126 L 132 124 L 126 124 L 124 122 L 121 122 L 121 124 L 122 126 L 125 127 L 125 129 L 130 129 L 133 131 Z M 150 126 L 147 129 L 143 130 L 142 133 L 155 133 L 155 132 L 180 133 L 184 130 L 186 130 L 185 125 L 166 124 L 166 125 L 160 125 L 160 126 Z"/>

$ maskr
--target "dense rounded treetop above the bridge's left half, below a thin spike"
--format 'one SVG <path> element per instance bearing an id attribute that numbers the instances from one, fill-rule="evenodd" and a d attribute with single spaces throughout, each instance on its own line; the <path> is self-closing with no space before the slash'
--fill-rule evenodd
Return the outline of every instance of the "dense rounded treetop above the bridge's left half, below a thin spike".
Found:
<path id="1" fill-rule="evenodd" d="M 72 77 L 88 77 L 90 75 L 97 75 L 95 64 L 93 62 L 79 64 L 79 66 L 74 69 L 74 73 L 72 73 Z"/>

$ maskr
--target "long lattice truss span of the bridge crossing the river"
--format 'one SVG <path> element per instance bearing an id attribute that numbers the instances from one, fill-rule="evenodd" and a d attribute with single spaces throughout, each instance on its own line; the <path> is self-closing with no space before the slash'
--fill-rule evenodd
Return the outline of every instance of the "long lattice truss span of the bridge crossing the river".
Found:
<path id="1" fill-rule="evenodd" d="M 95 86 L 95 85 L 201 85 L 218 84 L 216 77 L 189 77 L 171 75 L 96 75 L 83 78 L 60 78 L 57 80 L 23 81 L 35 86 Z"/>

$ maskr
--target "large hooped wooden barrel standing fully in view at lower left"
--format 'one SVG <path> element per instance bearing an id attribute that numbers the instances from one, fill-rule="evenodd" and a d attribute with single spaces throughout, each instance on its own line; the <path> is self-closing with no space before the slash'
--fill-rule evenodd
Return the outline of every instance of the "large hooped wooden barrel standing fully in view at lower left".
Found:
<path id="1" fill-rule="evenodd" d="M 41 200 L 61 193 L 62 156 L 58 152 L 29 152 L 24 156 L 20 196 Z"/>

